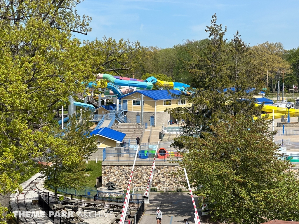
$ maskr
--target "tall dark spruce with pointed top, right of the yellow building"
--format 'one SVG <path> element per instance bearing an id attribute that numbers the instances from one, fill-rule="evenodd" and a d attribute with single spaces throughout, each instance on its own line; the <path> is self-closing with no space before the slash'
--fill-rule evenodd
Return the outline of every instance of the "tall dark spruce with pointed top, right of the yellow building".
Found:
<path id="1" fill-rule="evenodd" d="M 251 69 L 247 69 L 250 63 L 248 46 L 238 33 L 234 40 L 227 42 L 224 39 L 226 27 L 223 30 L 221 24 L 216 24 L 216 15 L 212 16 L 206 32 L 210 33 L 206 50 L 200 54 L 187 50 L 192 56 L 190 62 L 185 62 L 192 74 L 192 88 L 188 91 L 193 94 L 181 94 L 180 98 L 192 106 L 167 110 L 175 119 L 186 121 L 184 131 L 190 135 L 205 134 L 210 124 L 237 113 L 259 114 L 252 103 L 253 94 L 259 93 L 259 80 Z"/>

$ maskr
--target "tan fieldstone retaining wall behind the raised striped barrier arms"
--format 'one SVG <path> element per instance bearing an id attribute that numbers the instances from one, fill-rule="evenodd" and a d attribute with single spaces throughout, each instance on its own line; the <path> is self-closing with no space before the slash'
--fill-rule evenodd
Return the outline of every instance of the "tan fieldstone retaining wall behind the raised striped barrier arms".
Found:
<path id="1" fill-rule="evenodd" d="M 112 181 L 126 189 L 131 169 L 130 165 L 102 165 L 102 184 Z M 132 185 L 146 187 L 151 169 L 151 165 L 135 165 Z M 177 178 L 174 175 L 179 169 L 181 167 L 178 165 L 156 165 L 152 187 L 181 187 L 179 181 L 185 181 L 185 177 Z"/>

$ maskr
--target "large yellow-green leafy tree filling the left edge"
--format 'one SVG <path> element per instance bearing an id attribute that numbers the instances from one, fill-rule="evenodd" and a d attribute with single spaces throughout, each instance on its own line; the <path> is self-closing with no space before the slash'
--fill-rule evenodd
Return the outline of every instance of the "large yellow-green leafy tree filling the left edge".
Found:
<path id="1" fill-rule="evenodd" d="M 95 80 L 91 59 L 74 33 L 86 34 L 77 0 L 16 0 L 0 4 L 0 194 L 22 190 L 45 149 L 53 110 Z M 55 142 L 53 142 L 54 144 Z M 47 143 L 50 144 L 50 143 Z M 1 203 L 1 202 L 0 202 Z"/>

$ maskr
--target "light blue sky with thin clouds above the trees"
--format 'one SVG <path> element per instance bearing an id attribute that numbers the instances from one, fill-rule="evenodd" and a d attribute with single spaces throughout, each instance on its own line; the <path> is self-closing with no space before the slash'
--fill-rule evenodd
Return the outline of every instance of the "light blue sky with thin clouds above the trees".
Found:
<path id="1" fill-rule="evenodd" d="M 138 40 L 143 46 L 173 47 L 186 39 L 205 39 L 205 27 L 216 13 L 226 25 L 227 39 L 239 30 L 251 46 L 281 42 L 286 49 L 299 47 L 298 0 L 85 0 L 80 15 L 92 17 L 92 31 L 80 39 Z"/>

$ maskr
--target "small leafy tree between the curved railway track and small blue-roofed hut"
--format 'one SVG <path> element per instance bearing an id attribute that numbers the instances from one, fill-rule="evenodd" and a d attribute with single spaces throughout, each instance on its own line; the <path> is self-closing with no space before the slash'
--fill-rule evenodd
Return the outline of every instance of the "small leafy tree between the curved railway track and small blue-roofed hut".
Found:
<path id="1" fill-rule="evenodd" d="M 57 200 L 58 188 L 79 188 L 86 177 L 85 161 L 97 151 L 96 136 L 90 136 L 90 112 L 82 110 L 69 118 L 65 129 L 52 127 L 45 146 L 44 156 L 52 166 L 43 166 L 42 173 L 47 177 L 45 184 L 54 188 Z"/>

